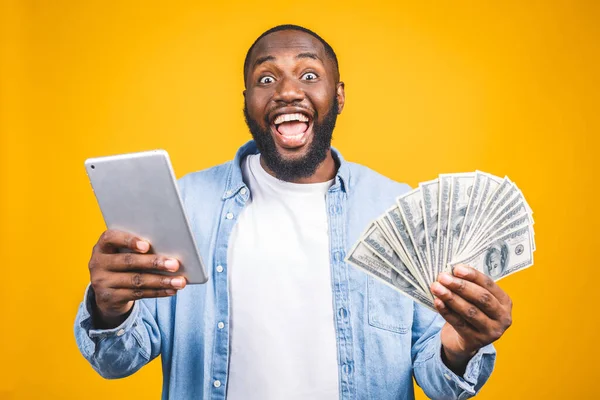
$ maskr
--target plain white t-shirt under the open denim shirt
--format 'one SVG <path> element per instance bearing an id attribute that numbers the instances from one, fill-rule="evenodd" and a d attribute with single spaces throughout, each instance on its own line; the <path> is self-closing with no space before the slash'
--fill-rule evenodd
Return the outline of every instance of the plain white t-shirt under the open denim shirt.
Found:
<path id="1" fill-rule="evenodd" d="M 248 156 L 242 171 L 250 200 L 227 255 L 227 399 L 339 398 L 325 202 L 333 181 L 280 181 L 260 155 Z"/>

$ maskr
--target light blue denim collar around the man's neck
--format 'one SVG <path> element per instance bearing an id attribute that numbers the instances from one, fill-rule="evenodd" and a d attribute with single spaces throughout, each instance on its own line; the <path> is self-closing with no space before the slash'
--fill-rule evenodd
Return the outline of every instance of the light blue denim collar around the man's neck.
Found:
<path id="1" fill-rule="evenodd" d="M 332 147 L 331 152 L 336 164 L 339 165 L 339 168 L 335 176 L 335 182 L 331 188 L 329 188 L 329 190 L 342 190 L 346 192 L 348 190 L 348 183 L 350 182 L 350 168 L 338 150 Z M 244 183 L 244 178 L 242 175 L 242 160 L 250 154 L 258 153 L 259 151 L 254 140 L 250 140 L 238 149 L 237 153 L 235 154 L 235 158 L 233 159 L 232 168 L 230 169 L 227 177 L 227 184 L 225 185 L 223 200 L 235 196 L 240 189 L 246 187 L 246 183 Z"/>

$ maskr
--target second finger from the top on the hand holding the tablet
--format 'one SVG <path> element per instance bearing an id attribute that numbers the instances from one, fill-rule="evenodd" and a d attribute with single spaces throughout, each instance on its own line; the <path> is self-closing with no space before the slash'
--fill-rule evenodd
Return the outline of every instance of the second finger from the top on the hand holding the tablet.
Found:
<path id="1" fill-rule="evenodd" d="M 102 254 L 100 263 L 107 265 L 111 271 L 169 271 L 179 269 L 179 261 L 157 254 Z"/>

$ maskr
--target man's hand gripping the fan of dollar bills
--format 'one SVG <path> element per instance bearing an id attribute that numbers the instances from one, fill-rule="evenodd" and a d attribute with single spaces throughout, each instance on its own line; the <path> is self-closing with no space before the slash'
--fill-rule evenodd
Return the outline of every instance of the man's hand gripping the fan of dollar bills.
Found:
<path id="1" fill-rule="evenodd" d="M 435 307 L 446 320 L 442 327 L 442 359 L 463 375 L 477 351 L 498 340 L 512 323 L 510 297 L 487 275 L 454 267 L 454 276 L 441 273 L 431 285 Z"/>

